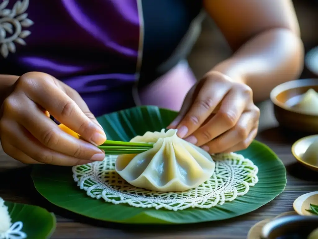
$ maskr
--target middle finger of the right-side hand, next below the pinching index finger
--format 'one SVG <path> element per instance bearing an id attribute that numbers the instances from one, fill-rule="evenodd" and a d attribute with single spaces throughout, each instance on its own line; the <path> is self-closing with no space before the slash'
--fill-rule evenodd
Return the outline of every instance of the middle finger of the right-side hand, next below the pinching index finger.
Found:
<path id="1" fill-rule="evenodd" d="M 230 90 L 222 100 L 220 109 L 211 120 L 185 140 L 197 146 L 210 142 L 237 124 L 248 103 L 249 100 L 241 91 Z"/>

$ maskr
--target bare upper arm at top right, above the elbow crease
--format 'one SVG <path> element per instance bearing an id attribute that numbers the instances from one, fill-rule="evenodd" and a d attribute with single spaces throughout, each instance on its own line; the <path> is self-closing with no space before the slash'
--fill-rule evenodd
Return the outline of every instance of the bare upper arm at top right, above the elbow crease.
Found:
<path id="1" fill-rule="evenodd" d="M 233 50 L 272 28 L 289 29 L 300 35 L 291 0 L 204 0 L 204 8 Z"/>

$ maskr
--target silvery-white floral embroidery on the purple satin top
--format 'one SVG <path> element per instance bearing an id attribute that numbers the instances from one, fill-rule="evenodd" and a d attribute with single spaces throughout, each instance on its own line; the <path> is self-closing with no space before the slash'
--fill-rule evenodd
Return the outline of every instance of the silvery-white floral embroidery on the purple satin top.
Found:
<path id="1" fill-rule="evenodd" d="M 33 25 L 33 21 L 28 19 L 25 13 L 29 7 L 29 0 L 18 0 L 12 9 L 6 9 L 9 0 L 0 0 L 0 54 L 6 58 L 9 52 L 15 53 L 14 44 L 26 45 L 23 40 L 31 34 L 30 31 L 22 30 L 22 27 Z"/>

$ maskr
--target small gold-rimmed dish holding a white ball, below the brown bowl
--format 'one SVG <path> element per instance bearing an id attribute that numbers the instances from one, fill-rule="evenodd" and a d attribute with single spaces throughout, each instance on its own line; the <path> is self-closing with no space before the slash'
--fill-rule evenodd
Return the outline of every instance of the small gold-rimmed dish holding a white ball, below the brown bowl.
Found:
<path id="1" fill-rule="evenodd" d="M 302 156 L 308 149 L 309 145 L 312 144 L 316 139 L 318 139 L 318 134 L 310 135 L 297 140 L 292 146 L 292 154 L 297 159 L 297 161 L 314 171 L 318 171 L 318 166 L 305 162 Z"/>

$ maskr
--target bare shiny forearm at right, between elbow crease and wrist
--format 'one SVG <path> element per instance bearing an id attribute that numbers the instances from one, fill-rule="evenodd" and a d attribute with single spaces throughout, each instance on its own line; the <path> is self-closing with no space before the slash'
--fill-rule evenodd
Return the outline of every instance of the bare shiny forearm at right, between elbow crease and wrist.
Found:
<path id="1" fill-rule="evenodd" d="M 265 100 L 280 83 L 296 79 L 303 69 L 304 49 L 299 36 L 287 29 L 271 29 L 247 41 L 213 70 L 243 81 L 255 102 Z"/>

